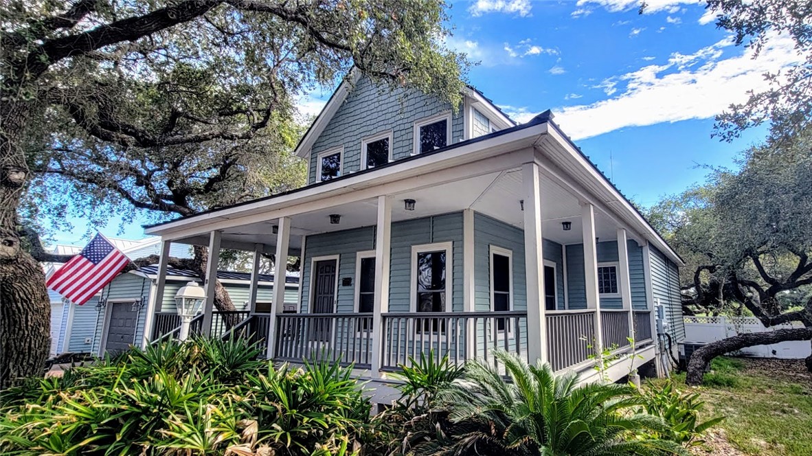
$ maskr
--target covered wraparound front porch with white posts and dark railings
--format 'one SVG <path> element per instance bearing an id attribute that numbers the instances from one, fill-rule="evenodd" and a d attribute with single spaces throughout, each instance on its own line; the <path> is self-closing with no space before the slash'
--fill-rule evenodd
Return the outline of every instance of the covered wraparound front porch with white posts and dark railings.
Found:
<path id="1" fill-rule="evenodd" d="M 300 257 L 296 308 L 274 287 L 267 312 L 255 291 L 247 312 L 218 312 L 206 282 L 192 329 L 261 341 L 272 359 L 329 357 L 373 378 L 430 352 L 464 363 L 493 359 L 500 348 L 555 370 L 588 369 L 604 347 L 645 353 L 628 357 L 637 365 L 651 359 L 640 221 L 618 215 L 613 188 L 573 177 L 565 167 L 572 151 L 560 141 L 546 135 L 497 153 L 481 144 L 467 157 L 415 161 L 400 172 L 408 163 L 391 164 L 374 181 L 348 175 L 276 205 L 159 230 L 165 253 L 170 243 L 251 251 L 254 275 L 260 252 Z M 216 260 L 208 267 L 216 270 Z M 153 312 L 153 339 L 176 330 L 162 316 L 172 310 Z"/>

